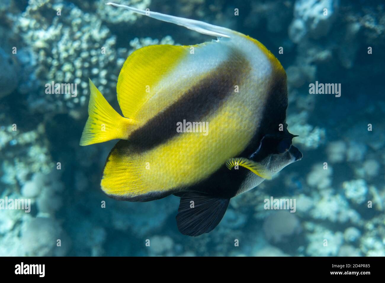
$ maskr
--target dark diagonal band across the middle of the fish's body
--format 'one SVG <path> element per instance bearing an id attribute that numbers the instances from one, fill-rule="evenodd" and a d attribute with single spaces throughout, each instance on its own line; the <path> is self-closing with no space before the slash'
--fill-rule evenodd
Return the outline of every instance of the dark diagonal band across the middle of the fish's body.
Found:
<path id="1" fill-rule="evenodd" d="M 176 131 L 177 122 L 203 122 L 205 117 L 214 113 L 234 94 L 234 86 L 241 84 L 243 75 L 251 70 L 248 61 L 239 52 L 231 52 L 229 58 L 176 102 L 132 132 L 129 142 L 136 144 L 141 151 L 152 149 L 182 134 Z"/>

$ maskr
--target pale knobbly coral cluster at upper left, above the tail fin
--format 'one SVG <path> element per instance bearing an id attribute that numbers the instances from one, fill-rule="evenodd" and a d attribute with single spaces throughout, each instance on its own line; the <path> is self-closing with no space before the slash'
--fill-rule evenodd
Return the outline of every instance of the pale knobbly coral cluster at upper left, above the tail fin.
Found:
<path id="1" fill-rule="evenodd" d="M 69 92 L 50 94 L 44 99 L 41 95 L 29 95 L 33 110 L 67 112 L 77 105 L 85 105 L 88 78 L 107 98 L 113 97 L 114 81 L 121 67 L 117 62 L 122 62 L 118 59 L 126 54 L 122 57 L 116 50 L 116 37 L 96 15 L 85 13 L 74 5 L 65 7 L 62 2 L 45 0 L 28 6 L 15 20 L 13 32 L 35 54 L 31 60 L 35 72 L 31 76 L 39 81 L 37 94 L 52 82 L 78 86 L 74 95 Z"/>

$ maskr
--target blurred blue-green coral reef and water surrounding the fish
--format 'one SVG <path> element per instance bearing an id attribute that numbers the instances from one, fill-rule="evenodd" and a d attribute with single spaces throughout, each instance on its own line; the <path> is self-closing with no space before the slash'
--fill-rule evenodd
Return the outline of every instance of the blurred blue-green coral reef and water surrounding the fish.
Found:
<path id="1" fill-rule="evenodd" d="M 88 78 L 119 109 L 117 76 L 134 50 L 213 37 L 105 2 L 0 0 L 0 199 L 31 199 L 30 213 L 0 210 L 0 256 L 385 256 L 383 1 L 115 0 L 250 35 L 286 70 L 303 159 L 231 199 L 198 237 L 177 230 L 176 196 L 105 196 L 116 141 L 79 140 Z M 77 96 L 46 94 L 52 81 L 77 84 Z M 310 94 L 316 81 L 341 84 L 341 96 Z M 264 209 L 271 196 L 296 199 L 296 212 Z"/>

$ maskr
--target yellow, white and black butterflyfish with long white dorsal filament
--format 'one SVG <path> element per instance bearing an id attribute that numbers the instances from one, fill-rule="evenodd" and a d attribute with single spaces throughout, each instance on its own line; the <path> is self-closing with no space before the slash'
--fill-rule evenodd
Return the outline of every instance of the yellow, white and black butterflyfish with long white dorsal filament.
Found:
<path id="1" fill-rule="evenodd" d="M 89 117 L 80 138 L 80 146 L 119 139 L 100 182 L 107 196 L 146 202 L 173 194 L 180 198 L 177 229 L 188 236 L 209 233 L 231 198 L 303 157 L 287 129 L 286 72 L 243 33 L 107 5 L 216 37 L 129 55 L 116 87 L 122 116 L 89 80 Z"/>

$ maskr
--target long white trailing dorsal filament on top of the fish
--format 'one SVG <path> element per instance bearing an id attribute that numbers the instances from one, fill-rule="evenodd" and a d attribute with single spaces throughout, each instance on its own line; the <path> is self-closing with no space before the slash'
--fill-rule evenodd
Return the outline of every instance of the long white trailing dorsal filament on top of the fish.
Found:
<path id="1" fill-rule="evenodd" d="M 190 30 L 195 30 L 196 32 L 207 34 L 207 35 L 212 35 L 215 37 L 231 37 L 231 34 L 234 33 L 233 30 L 225 27 L 219 27 L 218 25 L 211 25 L 209 23 L 197 21 L 197 20 L 191 20 L 188 18 L 181 18 L 181 17 L 175 17 L 171 15 L 166 15 L 158 12 L 152 12 L 152 11 L 144 11 L 144 10 L 139 10 L 134 7 L 129 7 L 126 5 L 121 5 L 121 4 L 116 4 L 112 2 L 108 2 L 105 5 L 112 5 L 115 7 L 121 7 L 127 10 L 130 10 L 132 12 L 141 14 L 141 15 L 146 15 L 150 18 L 155 18 L 157 20 L 161 20 L 163 22 L 168 22 L 168 23 L 174 23 L 176 25 L 181 25 L 183 27 L 186 27 Z"/>

